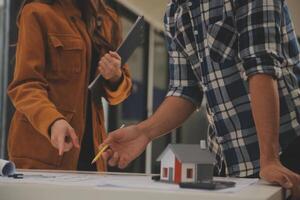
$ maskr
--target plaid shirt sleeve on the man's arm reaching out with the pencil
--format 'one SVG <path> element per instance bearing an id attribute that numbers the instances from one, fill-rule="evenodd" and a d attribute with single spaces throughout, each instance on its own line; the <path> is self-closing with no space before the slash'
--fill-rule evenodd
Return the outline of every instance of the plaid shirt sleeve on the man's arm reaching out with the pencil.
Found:
<path id="1" fill-rule="evenodd" d="M 166 27 L 169 27 L 168 17 L 165 17 Z M 170 29 L 166 28 L 167 49 L 169 54 L 169 91 L 167 97 L 182 97 L 200 106 L 203 93 L 197 78 L 194 75 L 188 59 L 177 48 Z"/>

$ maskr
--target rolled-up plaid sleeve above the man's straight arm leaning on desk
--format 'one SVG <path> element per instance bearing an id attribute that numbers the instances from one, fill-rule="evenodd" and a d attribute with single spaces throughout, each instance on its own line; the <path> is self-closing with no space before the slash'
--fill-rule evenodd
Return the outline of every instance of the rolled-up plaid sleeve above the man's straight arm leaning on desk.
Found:
<path id="1" fill-rule="evenodd" d="M 246 78 L 282 76 L 281 0 L 235 0 L 239 58 Z"/>

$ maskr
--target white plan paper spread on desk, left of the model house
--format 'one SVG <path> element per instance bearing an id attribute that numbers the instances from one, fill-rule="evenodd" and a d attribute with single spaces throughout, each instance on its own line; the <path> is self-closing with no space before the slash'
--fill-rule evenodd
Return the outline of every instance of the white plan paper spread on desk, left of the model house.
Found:
<path id="1" fill-rule="evenodd" d="M 176 184 L 154 182 L 150 176 L 135 175 L 106 175 L 106 174 L 80 174 L 55 172 L 22 172 L 23 179 L 0 178 L 0 182 L 19 182 L 30 184 L 49 184 L 82 187 L 110 187 L 110 188 L 144 188 L 159 190 L 176 190 Z"/>

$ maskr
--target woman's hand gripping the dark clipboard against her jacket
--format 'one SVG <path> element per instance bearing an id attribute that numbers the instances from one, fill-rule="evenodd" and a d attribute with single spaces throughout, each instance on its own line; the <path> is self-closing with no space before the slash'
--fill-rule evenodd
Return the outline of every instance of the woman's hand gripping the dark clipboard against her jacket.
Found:
<path id="1" fill-rule="evenodd" d="M 122 77 L 121 57 L 116 52 L 105 54 L 98 63 L 98 70 L 111 84 L 117 84 Z"/>

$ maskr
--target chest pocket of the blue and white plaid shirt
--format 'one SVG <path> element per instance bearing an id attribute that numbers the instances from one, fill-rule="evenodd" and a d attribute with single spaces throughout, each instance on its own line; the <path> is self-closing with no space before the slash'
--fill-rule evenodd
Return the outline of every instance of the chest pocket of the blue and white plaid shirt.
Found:
<path id="1" fill-rule="evenodd" d="M 209 25 L 207 41 L 210 57 L 213 61 L 224 63 L 235 60 L 238 51 L 238 32 L 234 25 L 234 18 L 229 16 Z"/>

